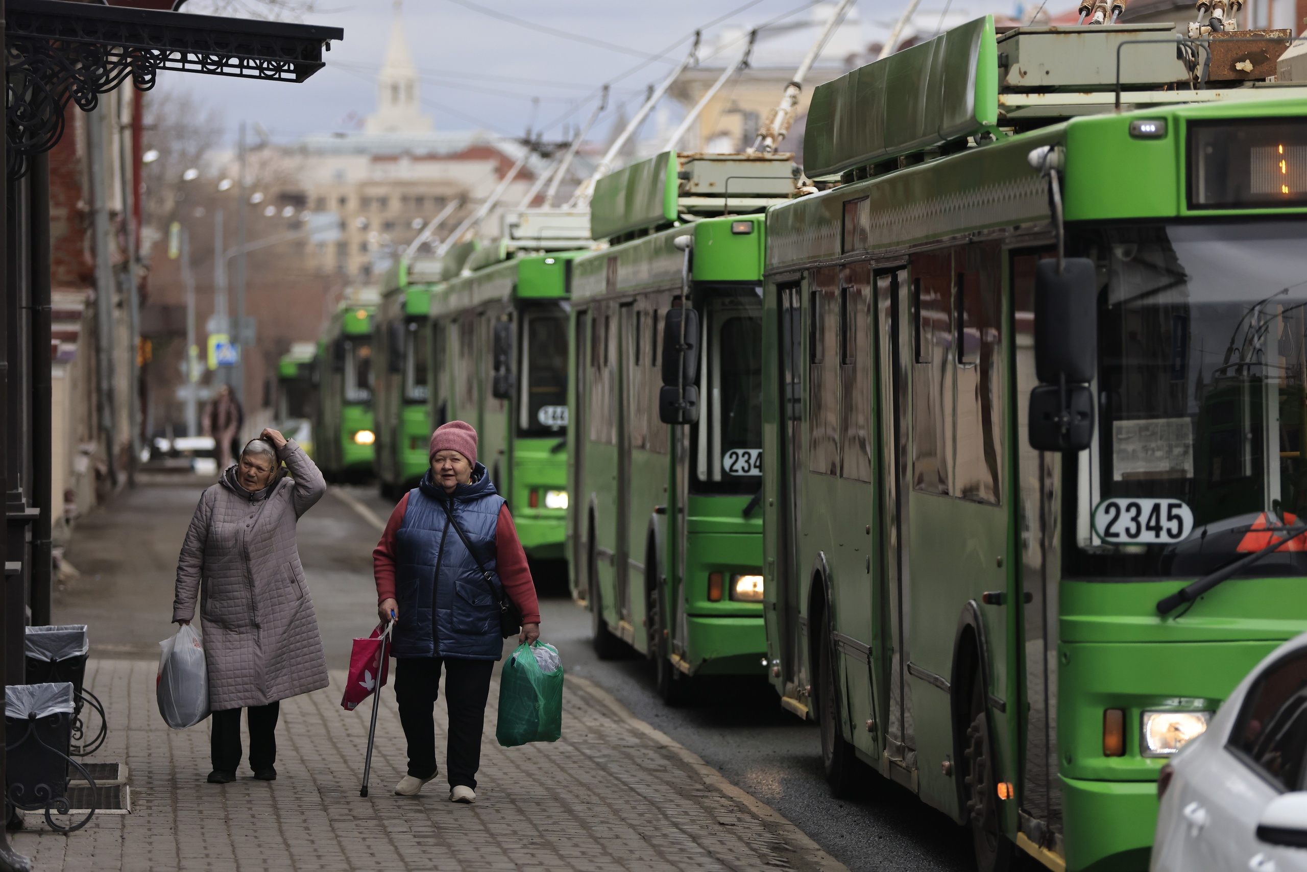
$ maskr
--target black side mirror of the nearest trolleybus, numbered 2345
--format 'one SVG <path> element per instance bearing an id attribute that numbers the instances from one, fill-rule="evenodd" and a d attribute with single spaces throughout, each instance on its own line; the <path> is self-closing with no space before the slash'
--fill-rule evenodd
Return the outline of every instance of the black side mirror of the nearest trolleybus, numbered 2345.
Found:
<path id="1" fill-rule="evenodd" d="M 1030 392 L 1030 447 L 1084 451 L 1094 438 L 1098 369 L 1098 277 L 1094 261 L 1067 258 L 1035 267 L 1035 375 Z"/>

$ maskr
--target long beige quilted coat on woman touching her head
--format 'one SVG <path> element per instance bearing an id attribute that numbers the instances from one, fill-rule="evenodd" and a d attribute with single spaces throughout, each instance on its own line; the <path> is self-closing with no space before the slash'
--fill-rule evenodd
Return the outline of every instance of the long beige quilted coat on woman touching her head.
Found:
<path id="1" fill-rule="evenodd" d="M 293 439 L 277 451 L 293 478 L 248 493 L 230 476 L 200 497 L 176 562 L 173 620 L 200 597 L 209 707 L 263 706 L 327 686 L 327 660 L 295 522 L 327 490 Z"/>

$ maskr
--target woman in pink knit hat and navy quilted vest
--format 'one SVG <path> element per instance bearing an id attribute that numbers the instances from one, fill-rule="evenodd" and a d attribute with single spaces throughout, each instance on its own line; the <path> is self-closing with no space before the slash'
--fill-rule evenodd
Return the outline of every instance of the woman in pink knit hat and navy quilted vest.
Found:
<path id="1" fill-rule="evenodd" d="M 512 515 L 477 463 L 477 431 L 451 421 L 431 435 L 427 456 L 431 468 L 395 506 L 372 552 L 378 613 L 382 622 L 396 616 L 395 699 L 408 739 L 408 774 L 395 792 L 413 796 L 435 778 L 433 709 L 443 665 L 450 800 L 472 803 L 490 673 L 503 654 L 499 597 L 521 609 L 521 642 L 540 638 L 540 605 Z M 493 591 L 478 560 L 497 577 Z"/>

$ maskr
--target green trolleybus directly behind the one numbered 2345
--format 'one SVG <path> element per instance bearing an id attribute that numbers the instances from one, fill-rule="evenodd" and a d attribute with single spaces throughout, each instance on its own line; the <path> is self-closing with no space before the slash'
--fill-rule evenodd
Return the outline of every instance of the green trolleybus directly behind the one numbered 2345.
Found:
<path id="1" fill-rule="evenodd" d="M 668 702 L 763 672 L 762 210 L 793 191 L 788 154 L 664 152 L 599 180 L 610 244 L 572 267 L 572 594 L 599 655 L 654 659 Z M 660 408 L 669 379 L 698 407 Z"/>

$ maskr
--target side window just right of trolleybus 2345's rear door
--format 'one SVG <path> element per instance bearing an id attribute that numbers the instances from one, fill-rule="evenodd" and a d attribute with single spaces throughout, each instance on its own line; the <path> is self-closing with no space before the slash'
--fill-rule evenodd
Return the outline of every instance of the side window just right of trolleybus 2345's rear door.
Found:
<path id="1" fill-rule="evenodd" d="M 827 341 L 838 336 L 839 269 L 813 275 L 808 305 L 808 468 L 839 475 L 839 369 Z"/>

